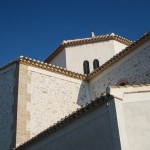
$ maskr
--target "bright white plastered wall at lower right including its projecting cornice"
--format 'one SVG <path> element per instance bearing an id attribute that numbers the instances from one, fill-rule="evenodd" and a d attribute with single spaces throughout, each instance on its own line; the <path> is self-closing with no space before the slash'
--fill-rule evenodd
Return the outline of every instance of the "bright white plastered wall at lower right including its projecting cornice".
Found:
<path id="1" fill-rule="evenodd" d="M 112 88 L 122 150 L 150 147 L 150 86 Z"/>

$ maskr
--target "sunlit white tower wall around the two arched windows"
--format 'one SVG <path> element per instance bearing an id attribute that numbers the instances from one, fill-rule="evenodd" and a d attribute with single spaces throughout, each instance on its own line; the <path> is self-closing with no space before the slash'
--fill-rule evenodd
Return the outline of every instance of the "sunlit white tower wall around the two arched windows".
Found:
<path id="1" fill-rule="evenodd" d="M 125 47 L 114 40 L 66 47 L 66 68 L 83 74 L 83 62 L 88 60 L 92 72 L 94 59 L 98 59 L 101 66 Z"/>

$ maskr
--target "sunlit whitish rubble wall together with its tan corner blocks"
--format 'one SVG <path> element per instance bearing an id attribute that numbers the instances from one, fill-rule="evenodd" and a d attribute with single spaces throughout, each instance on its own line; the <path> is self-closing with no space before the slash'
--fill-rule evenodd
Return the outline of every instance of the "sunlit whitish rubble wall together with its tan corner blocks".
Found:
<path id="1" fill-rule="evenodd" d="M 21 136 L 24 137 L 19 143 L 35 136 L 90 100 L 87 83 L 81 80 L 25 65 L 20 70 L 24 71 L 20 71 L 19 75 L 22 80 L 19 80 L 18 109 L 23 108 L 23 111 L 18 113 L 18 127 L 23 127 L 18 128 L 18 133 L 22 132 Z"/>

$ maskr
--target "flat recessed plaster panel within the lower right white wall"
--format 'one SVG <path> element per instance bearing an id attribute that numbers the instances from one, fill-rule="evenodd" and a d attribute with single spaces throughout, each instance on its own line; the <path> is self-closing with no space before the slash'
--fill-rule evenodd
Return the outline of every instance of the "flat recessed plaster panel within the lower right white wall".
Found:
<path id="1" fill-rule="evenodd" d="M 125 94 L 123 112 L 129 149 L 149 149 L 150 92 Z"/>

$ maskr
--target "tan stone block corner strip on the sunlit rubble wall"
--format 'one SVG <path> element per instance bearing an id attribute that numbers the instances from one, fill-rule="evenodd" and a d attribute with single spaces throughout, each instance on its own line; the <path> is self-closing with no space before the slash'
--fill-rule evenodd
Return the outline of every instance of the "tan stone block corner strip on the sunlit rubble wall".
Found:
<path id="1" fill-rule="evenodd" d="M 19 65 L 19 90 L 18 90 L 18 110 L 17 110 L 17 145 L 30 139 L 30 131 L 27 130 L 27 122 L 30 121 L 30 113 L 27 104 L 30 102 L 30 93 L 27 86 L 30 84 L 28 66 Z"/>

